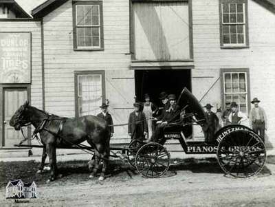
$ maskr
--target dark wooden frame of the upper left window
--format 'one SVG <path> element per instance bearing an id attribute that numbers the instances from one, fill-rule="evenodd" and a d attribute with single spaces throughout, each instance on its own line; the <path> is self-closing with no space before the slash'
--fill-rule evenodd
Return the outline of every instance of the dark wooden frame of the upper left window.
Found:
<path id="1" fill-rule="evenodd" d="M 89 47 L 89 46 L 78 46 L 77 45 L 77 33 L 76 33 L 76 14 L 77 10 L 76 7 L 84 5 L 84 6 L 98 6 L 99 7 L 99 37 L 100 37 L 100 46 L 96 47 Z M 73 18 L 73 40 L 74 40 L 74 50 L 75 51 L 96 51 L 96 50 L 104 50 L 104 25 L 103 25 L 103 5 L 102 1 L 72 1 L 72 18 Z M 92 26 L 91 26 L 92 27 Z"/>

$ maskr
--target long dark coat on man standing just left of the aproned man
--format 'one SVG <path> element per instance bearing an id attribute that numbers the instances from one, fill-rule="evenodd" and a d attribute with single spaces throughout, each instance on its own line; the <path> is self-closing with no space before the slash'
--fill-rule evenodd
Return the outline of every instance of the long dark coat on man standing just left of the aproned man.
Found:
<path id="1" fill-rule="evenodd" d="M 139 139 L 144 137 L 144 132 L 148 132 L 145 114 L 140 111 L 136 116 L 133 111 L 129 116 L 128 133 L 131 133 L 132 139 Z"/>

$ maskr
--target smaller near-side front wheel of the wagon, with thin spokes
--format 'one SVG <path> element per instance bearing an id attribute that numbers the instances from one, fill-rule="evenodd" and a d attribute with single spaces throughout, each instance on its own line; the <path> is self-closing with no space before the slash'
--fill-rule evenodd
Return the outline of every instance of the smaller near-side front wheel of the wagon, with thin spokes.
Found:
<path id="1" fill-rule="evenodd" d="M 156 142 L 144 144 L 135 155 L 135 167 L 144 177 L 159 177 L 168 171 L 170 154 Z"/>

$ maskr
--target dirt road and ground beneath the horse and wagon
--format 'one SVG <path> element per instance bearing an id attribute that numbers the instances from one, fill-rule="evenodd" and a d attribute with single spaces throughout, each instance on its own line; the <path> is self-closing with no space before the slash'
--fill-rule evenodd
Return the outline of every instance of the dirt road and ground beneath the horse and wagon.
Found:
<path id="1" fill-rule="evenodd" d="M 103 182 L 89 179 L 87 162 L 63 162 L 58 163 L 63 177 L 50 183 L 49 173 L 35 173 L 37 162 L 1 162 L 0 206 L 274 206 L 275 157 L 268 157 L 263 171 L 247 179 L 226 177 L 214 159 L 176 162 L 156 179 L 112 162 Z M 38 199 L 23 204 L 5 199 L 8 179 L 19 176 L 23 182 L 36 182 Z"/>

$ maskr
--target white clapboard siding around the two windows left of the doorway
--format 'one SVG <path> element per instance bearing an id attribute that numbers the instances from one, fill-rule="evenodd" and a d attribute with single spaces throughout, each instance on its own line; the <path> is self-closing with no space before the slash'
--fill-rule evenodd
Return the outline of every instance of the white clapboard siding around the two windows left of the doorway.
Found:
<path id="1" fill-rule="evenodd" d="M 114 74 L 120 77 L 127 74 L 133 78 L 133 71 L 129 70 L 129 1 L 103 1 L 102 51 L 74 51 L 72 19 L 72 1 L 67 1 L 43 18 L 45 109 L 60 116 L 75 116 L 74 72 L 102 70 L 105 72 L 105 93 L 114 122 L 127 122 L 130 111 L 114 108 L 124 104 L 132 107 L 134 79 L 131 83 L 123 80 L 115 82 L 112 77 Z M 118 94 L 118 89 L 124 94 L 123 98 Z M 113 142 L 122 142 L 125 135 L 125 127 L 115 127 L 116 140 Z M 127 135 L 126 139 L 129 139 Z"/>

